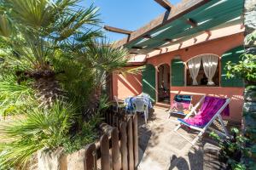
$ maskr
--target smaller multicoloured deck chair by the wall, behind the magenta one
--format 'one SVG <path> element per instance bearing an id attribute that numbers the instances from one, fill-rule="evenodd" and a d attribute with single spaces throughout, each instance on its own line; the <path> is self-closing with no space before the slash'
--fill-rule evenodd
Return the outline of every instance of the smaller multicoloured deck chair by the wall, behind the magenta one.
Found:
<path id="1" fill-rule="evenodd" d="M 189 114 L 189 111 L 193 107 L 191 102 L 192 102 L 191 95 L 176 94 L 172 100 L 172 105 L 169 111 L 170 116 L 172 116 L 172 113 L 186 116 L 187 114 Z"/>

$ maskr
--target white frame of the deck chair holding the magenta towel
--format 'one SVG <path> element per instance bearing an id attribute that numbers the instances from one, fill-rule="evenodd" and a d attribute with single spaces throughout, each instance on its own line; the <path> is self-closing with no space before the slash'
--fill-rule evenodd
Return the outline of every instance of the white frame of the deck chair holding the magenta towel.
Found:
<path id="1" fill-rule="evenodd" d="M 200 99 L 200 101 L 195 105 L 195 107 L 192 108 L 192 110 L 189 112 L 189 114 L 188 114 L 187 116 L 185 116 L 184 119 L 189 118 L 189 116 L 192 116 L 192 115 L 194 115 L 194 114 L 197 115 L 198 113 L 197 113 L 195 110 L 197 109 L 197 107 L 198 107 L 199 105 L 201 105 L 201 103 L 204 101 L 205 98 L 206 98 L 206 96 L 203 96 L 203 97 Z M 189 141 L 190 144 L 193 144 L 193 145 L 194 145 L 195 142 L 201 137 L 201 135 L 207 131 L 208 128 L 211 129 L 212 131 L 215 131 L 215 132 L 218 133 L 218 134 L 221 134 L 221 135 L 224 135 L 224 136 L 229 136 L 229 133 L 228 133 L 226 127 L 224 126 L 223 119 L 222 119 L 222 117 L 221 117 L 221 115 L 220 115 L 220 114 L 222 113 L 222 111 L 224 111 L 224 109 L 225 109 L 225 108 L 227 107 L 227 105 L 229 105 L 229 104 L 230 104 L 230 99 L 226 99 L 224 105 L 222 105 L 222 106 L 220 107 L 220 109 L 215 113 L 214 116 L 212 116 L 212 119 L 211 119 L 209 122 L 207 122 L 207 124 L 206 124 L 204 127 L 195 127 L 195 126 L 193 126 L 193 125 L 190 125 L 189 123 L 183 122 L 183 120 L 178 119 L 178 121 L 179 121 L 180 123 L 179 123 L 179 125 L 174 129 L 174 132 L 177 133 L 177 130 L 178 130 L 182 125 L 187 126 L 187 127 L 189 127 L 189 128 L 192 128 L 192 129 L 194 129 L 194 130 L 199 131 L 200 133 L 198 133 L 198 135 L 195 137 L 195 139 L 194 139 L 192 142 L 191 142 L 189 139 L 187 139 L 186 137 L 184 137 L 181 133 L 177 133 L 177 134 L 179 134 L 181 137 L 183 137 L 183 139 L 186 139 L 187 141 Z M 224 133 L 210 127 L 210 126 L 212 125 L 212 122 L 213 122 L 214 120 L 216 120 L 217 118 L 218 118 L 219 122 L 221 123 L 221 127 L 223 127 L 223 129 L 224 129 Z"/>

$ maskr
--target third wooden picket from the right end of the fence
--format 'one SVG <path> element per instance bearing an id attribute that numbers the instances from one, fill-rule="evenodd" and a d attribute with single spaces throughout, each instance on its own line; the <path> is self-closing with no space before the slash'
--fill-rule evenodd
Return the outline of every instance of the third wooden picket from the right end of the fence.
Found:
<path id="1" fill-rule="evenodd" d="M 121 160 L 122 160 L 122 170 L 128 170 L 128 153 L 127 153 L 127 123 L 121 122 L 120 125 L 120 136 L 121 136 Z"/>

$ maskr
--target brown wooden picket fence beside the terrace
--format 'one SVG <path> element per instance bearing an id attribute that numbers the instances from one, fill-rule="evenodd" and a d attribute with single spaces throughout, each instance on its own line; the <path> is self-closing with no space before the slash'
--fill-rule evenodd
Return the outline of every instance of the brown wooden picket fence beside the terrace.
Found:
<path id="1" fill-rule="evenodd" d="M 133 170 L 138 165 L 137 115 L 107 112 L 105 122 L 113 128 L 104 133 L 99 144 L 85 149 L 85 170 Z"/>

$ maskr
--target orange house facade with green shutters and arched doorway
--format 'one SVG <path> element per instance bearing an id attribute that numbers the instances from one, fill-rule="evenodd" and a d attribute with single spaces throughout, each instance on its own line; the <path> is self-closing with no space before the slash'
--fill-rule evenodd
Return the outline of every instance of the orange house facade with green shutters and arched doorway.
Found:
<path id="1" fill-rule="evenodd" d="M 216 3 L 212 4 L 216 6 Z M 215 7 L 213 5 L 212 8 Z M 229 61 L 237 63 L 244 52 L 244 27 L 239 20 L 232 23 L 229 21 L 229 23 L 222 22 L 207 31 L 189 33 L 180 39 L 177 38 L 169 45 L 153 48 L 149 53 L 134 52 L 153 47 L 160 38 L 155 38 L 153 43 L 152 37 L 144 36 L 143 41 L 133 43 L 133 47 L 127 42 L 127 47 L 131 48 L 132 53 L 126 69 L 138 68 L 142 65 L 144 69 L 137 75 L 124 76 L 114 72 L 112 95 L 125 99 L 147 93 L 155 100 L 156 105 L 165 107 L 171 105 L 176 94 L 193 95 L 193 104 L 197 103 L 203 95 L 230 98 L 230 116 L 224 119 L 241 122 L 244 82 L 239 77 L 227 77 L 227 63 Z M 192 28 L 194 26 L 191 26 Z M 187 30 L 184 29 L 184 31 Z M 167 34 L 161 38 L 171 41 Z M 146 44 L 147 41 L 148 44 Z M 138 46 L 139 44 L 142 45 Z"/>

